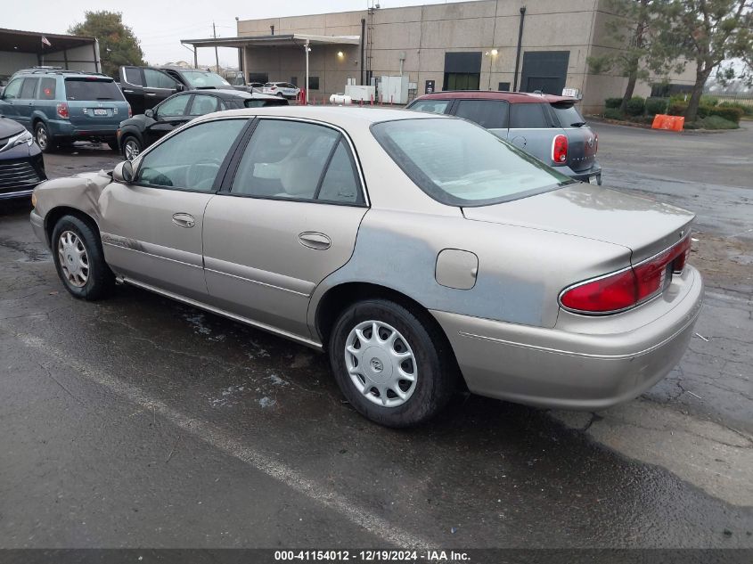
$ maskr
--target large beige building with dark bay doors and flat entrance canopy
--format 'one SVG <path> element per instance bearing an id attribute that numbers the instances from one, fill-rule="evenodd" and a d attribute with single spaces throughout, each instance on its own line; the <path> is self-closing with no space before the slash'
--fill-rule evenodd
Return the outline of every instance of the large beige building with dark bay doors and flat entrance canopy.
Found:
<path id="1" fill-rule="evenodd" d="M 410 97 L 430 88 L 550 94 L 570 88 L 591 112 L 626 85 L 624 77 L 591 74 L 586 63 L 621 47 L 605 26 L 614 17 L 610 0 L 478 0 L 241 20 L 238 37 L 184 43 L 238 47 L 250 81 L 303 86 L 308 41 L 309 93 L 317 101 L 343 92 L 348 79 L 368 85 L 403 75 Z M 635 94 L 651 94 L 651 82 Z M 692 73 L 671 82 L 692 85 Z"/>

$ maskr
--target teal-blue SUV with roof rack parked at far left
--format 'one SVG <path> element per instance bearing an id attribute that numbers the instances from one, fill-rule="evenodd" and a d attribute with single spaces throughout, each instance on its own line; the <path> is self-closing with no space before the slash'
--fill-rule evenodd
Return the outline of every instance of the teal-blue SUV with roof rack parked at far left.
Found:
<path id="1" fill-rule="evenodd" d="M 16 72 L 0 95 L 0 115 L 15 119 L 50 152 L 75 141 L 118 150 L 118 127 L 131 109 L 115 81 L 98 73 L 55 68 Z"/>

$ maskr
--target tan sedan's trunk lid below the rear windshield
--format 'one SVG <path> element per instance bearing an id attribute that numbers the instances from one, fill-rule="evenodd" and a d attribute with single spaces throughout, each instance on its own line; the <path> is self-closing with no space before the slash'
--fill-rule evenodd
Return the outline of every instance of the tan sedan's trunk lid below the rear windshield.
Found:
<path id="1" fill-rule="evenodd" d="M 631 249 L 636 264 L 680 241 L 694 214 L 591 184 L 491 206 L 462 208 L 467 219 L 567 233 Z"/>

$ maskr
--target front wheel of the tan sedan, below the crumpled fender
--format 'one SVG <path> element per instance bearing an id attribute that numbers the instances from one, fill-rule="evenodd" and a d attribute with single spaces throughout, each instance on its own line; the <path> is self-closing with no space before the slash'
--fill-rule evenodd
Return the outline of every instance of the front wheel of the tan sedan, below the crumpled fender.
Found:
<path id="1" fill-rule="evenodd" d="M 99 235 L 78 217 L 63 216 L 53 229 L 53 260 L 58 276 L 73 296 L 93 301 L 104 298 L 115 284 L 104 262 Z"/>

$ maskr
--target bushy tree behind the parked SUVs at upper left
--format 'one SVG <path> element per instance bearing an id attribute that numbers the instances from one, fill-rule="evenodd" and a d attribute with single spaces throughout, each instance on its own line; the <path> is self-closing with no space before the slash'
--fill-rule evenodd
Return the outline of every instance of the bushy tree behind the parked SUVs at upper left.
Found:
<path id="1" fill-rule="evenodd" d="M 86 12 L 85 20 L 68 29 L 75 36 L 99 41 L 102 72 L 117 77 L 121 65 L 143 65 L 143 51 L 134 32 L 123 23 L 120 12 Z"/>

